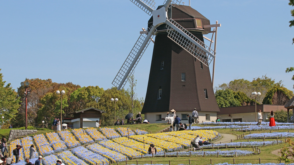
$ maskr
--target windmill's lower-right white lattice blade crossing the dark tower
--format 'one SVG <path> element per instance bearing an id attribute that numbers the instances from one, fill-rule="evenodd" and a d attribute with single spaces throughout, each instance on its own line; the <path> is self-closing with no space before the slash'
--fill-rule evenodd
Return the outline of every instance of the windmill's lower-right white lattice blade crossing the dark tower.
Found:
<path id="1" fill-rule="evenodd" d="M 171 38 L 204 65 L 208 66 L 211 63 L 215 52 L 209 46 L 171 18 L 166 21 L 166 27 L 168 28 L 168 38 Z"/>

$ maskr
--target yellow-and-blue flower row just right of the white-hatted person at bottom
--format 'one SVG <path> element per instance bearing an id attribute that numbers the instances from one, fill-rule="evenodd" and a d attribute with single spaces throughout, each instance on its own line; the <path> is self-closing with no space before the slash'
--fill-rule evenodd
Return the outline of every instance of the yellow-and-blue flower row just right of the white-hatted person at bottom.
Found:
<path id="1" fill-rule="evenodd" d="M 76 156 L 74 156 L 71 151 L 63 151 L 57 154 L 57 156 L 62 160 L 64 164 L 67 165 L 88 165 L 83 160 L 78 159 Z"/>

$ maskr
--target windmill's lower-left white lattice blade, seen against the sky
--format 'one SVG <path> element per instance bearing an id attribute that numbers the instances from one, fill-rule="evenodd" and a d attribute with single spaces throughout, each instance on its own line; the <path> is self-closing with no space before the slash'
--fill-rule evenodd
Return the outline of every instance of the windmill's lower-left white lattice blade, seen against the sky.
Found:
<path id="1" fill-rule="evenodd" d="M 149 45 L 151 38 L 153 38 L 156 33 L 154 26 L 151 29 L 148 28 L 149 33 L 143 33 L 138 38 L 130 54 L 126 58 L 125 62 L 121 66 L 121 69 L 118 71 L 116 77 L 114 78 L 112 84 L 117 87 L 119 90 L 121 87 L 124 87 L 128 81 L 128 76 L 131 75 L 138 64 L 140 58 L 145 52 L 147 46 Z"/>

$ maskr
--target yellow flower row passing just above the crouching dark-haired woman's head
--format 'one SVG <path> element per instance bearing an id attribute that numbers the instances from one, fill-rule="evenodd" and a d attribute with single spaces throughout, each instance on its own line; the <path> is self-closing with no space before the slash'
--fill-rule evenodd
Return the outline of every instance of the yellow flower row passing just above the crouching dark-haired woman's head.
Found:
<path id="1" fill-rule="evenodd" d="M 156 139 L 153 137 L 148 137 L 146 135 L 135 135 L 131 136 L 131 139 L 137 140 L 139 142 L 147 143 L 147 144 L 154 144 L 155 147 L 160 147 L 162 149 L 166 149 L 168 151 L 173 151 L 175 149 L 183 148 L 180 144 L 176 144 L 174 142 L 168 142 L 162 139 Z"/>

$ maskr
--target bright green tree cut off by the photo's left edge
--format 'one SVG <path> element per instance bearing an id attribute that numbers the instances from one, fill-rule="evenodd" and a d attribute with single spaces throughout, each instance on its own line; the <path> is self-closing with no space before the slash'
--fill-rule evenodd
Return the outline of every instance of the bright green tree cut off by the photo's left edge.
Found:
<path id="1" fill-rule="evenodd" d="M 1 69 L 0 69 L 1 71 Z M 5 121 L 14 119 L 17 109 L 20 107 L 20 100 L 17 98 L 17 93 L 10 87 L 10 83 L 5 85 L 3 75 L 0 73 L 0 114 L 4 116 Z"/>

